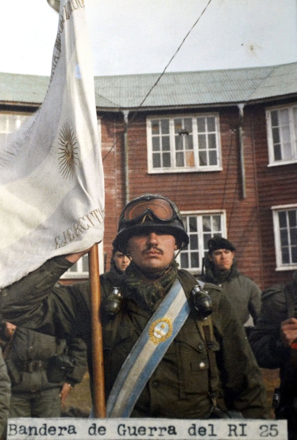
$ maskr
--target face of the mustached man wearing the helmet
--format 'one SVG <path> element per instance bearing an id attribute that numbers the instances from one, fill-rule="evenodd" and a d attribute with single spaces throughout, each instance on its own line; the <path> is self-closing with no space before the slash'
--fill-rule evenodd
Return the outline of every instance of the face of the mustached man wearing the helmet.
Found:
<path id="1" fill-rule="evenodd" d="M 174 258 L 177 249 L 173 235 L 155 231 L 130 237 L 127 252 L 133 262 L 144 272 L 157 275 L 164 271 Z"/>

